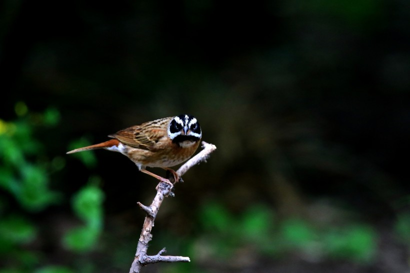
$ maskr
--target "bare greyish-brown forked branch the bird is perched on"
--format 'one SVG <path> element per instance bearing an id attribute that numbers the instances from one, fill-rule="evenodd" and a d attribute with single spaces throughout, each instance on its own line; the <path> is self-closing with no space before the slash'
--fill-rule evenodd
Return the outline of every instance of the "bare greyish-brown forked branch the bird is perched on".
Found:
<path id="1" fill-rule="evenodd" d="M 182 166 L 179 167 L 179 169 L 176 171 L 179 176 L 182 176 L 192 166 L 199 164 L 200 162 L 206 162 L 206 158 L 208 158 L 209 154 L 216 149 L 216 146 L 202 141 L 202 148 L 203 149 L 200 152 L 198 152 L 195 156 L 190 158 Z M 152 203 L 149 206 L 143 205 L 142 203 L 138 202 L 139 207 L 143 211 L 145 211 L 146 216 L 141 234 L 139 236 L 138 245 L 136 247 L 135 257 L 131 264 L 131 268 L 129 269 L 130 273 L 139 273 L 141 267 L 149 263 L 190 261 L 189 257 L 161 255 L 165 252 L 165 248 L 162 248 L 156 255 L 153 256 L 146 254 L 148 249 L 148 242 L 152 239 L 151 230 L 154 225 L 156 214 L 158 213 L 158 209 L 162 201 L 168 195 L 173 196 L 171 186 L 165 182 L 161 182 L 156 187 L 155 197 L 153 198 Z"/>

